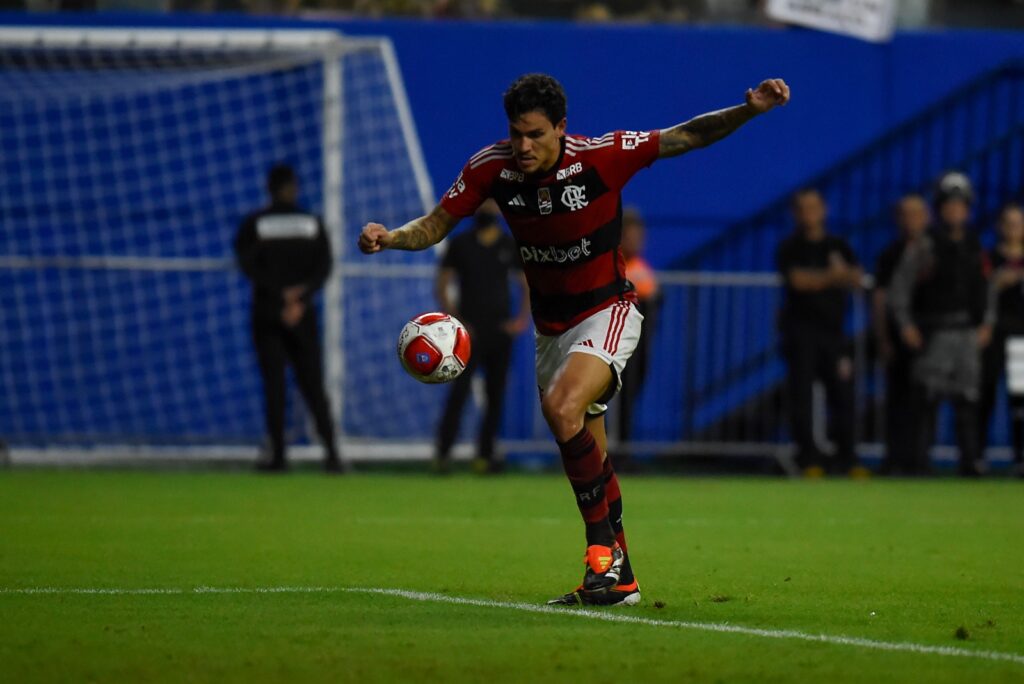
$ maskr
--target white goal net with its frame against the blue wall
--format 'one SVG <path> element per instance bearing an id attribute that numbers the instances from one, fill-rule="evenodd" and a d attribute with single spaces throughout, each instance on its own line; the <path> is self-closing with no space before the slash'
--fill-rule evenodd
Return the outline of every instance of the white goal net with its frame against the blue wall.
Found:
<path id="1" fill-rule="evenodd" d="M 250 289 L 231 244 L 291 163 L 324 216 L 325 372 L 341 438 L 432 432 L 401 324 L 431 253 L 353 254 L 433 203 L 386 39 L 309 31 L 0 30 L 0 439 L 12 447 L 251 446 Z M 372 267 L 370 267 L 372 266 Z M 289 395 L 289 435 L 308 441 Z"/>

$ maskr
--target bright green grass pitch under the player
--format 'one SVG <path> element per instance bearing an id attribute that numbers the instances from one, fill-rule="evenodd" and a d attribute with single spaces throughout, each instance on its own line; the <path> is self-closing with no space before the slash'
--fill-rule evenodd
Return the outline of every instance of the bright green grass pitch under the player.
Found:
<path id="1" fill-rule="evenodd" d="M 1024 681 L 1019 482 L 622 480 L 595 617 L 511 605 L 579 581 L 562 477 L 2 472 L 0 680 Z"/>

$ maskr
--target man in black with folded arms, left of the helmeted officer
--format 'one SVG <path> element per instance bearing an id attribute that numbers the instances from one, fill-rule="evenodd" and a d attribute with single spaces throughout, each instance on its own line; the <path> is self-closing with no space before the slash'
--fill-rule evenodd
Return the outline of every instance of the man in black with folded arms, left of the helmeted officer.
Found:
<path id="1" fill-rule="evenodd" d="M 827 209 L 818 190 L 797 191 L 792 206 L 797 229 L 779 245 L 776 262 L 785 284 L 779 332 L 797 463 L 808 477 L 824 475 L 813 430 L 813 386 L 820 380 L 836 442 L 830 470 L 864 477 L 854 452 L 853 359 L 843 330 L 847 293 L 860 287 L 863 271 L 850 245 L 826 231 Z"/>

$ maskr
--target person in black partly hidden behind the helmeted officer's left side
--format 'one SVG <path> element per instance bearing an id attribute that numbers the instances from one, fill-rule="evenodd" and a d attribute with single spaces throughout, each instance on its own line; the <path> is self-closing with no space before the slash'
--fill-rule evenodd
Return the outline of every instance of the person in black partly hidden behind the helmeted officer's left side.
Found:
<path id="1" fill-rule="evenodd" d="M 910 367 L 913 352 L 900 339 L 899 324 L 893 318 L 889 308 L 889 287 L 903 253 L 908 247 L 912 248 L 920 243 L 932 220 L 928 202 L 915 194 L 901 198 L 896 205 L 895 214 L 899 237 L 879 255 L 871 298 L 879 360 L 886 369 L 886 453 L 882 461 L 882 472 L 891 475 L 913 472 L 913 464 L 909 459 L 913 454 L 915 432 L 910 412 Z"/>

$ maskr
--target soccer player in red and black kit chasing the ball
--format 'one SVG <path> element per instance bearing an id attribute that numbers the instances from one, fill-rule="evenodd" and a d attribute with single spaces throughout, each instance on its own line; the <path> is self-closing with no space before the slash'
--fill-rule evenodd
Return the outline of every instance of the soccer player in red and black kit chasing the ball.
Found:
<path id="1" fill-rule="evenodd" d="M 537 328 L 541 409 L 583 516 L 583 583 L 549 603 L 635 604 L 640 588 L 627 556 L 622 496 L 606 458 L 604 412 L 640 338 L 643 316 L 620 249 L 621 190 L 655 160 L 712 144 L 790 99 L 780 79 L 745 102 L 653 131 L 566 134 L 561 85 L 544 74 L 505 92 L 509 137 L 466 163 L 433 211 L 388 230 L 368 223 L 359 249 L 422 250 L 440 242 L 487 198 L 519 247 Z"/>

